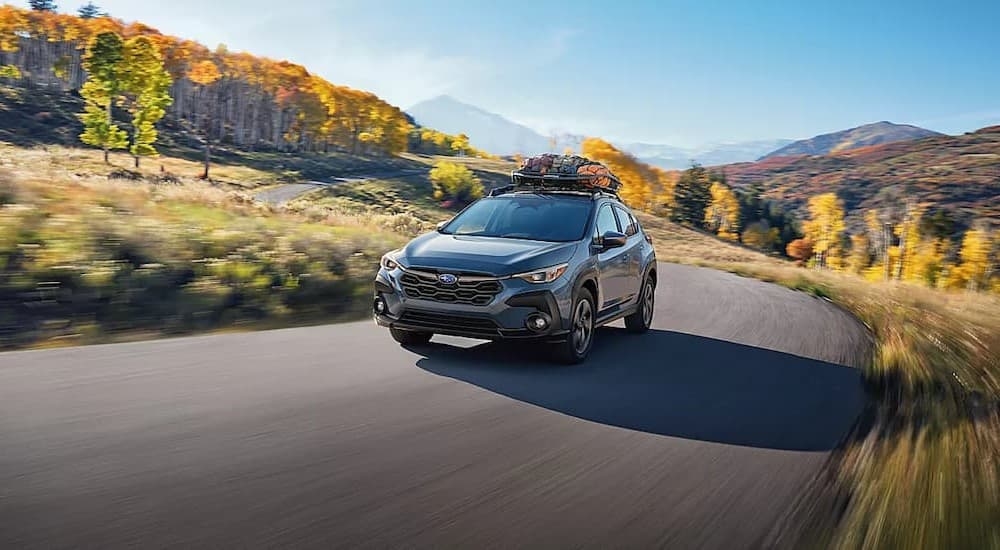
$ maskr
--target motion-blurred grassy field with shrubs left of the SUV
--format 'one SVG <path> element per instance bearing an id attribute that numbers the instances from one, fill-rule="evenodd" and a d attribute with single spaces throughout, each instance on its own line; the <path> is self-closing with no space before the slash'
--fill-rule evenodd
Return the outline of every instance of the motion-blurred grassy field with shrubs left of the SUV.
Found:
<path id="1" fill-rule="evenodd" d="M 273 173 L 153 166 L 114 179 L 99 152 L 0 146 L 0 347 L 358 318 L 379 256 L 405 241 L 257 204 L 245 188 Z"/>

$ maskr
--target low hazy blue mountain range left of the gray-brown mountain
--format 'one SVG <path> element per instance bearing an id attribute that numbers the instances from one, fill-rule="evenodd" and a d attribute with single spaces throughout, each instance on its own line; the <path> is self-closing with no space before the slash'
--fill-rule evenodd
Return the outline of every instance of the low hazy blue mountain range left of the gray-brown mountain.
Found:
<path id="1" fill-rule="evenodd" d="M 666 168 L 683 170 L 692 162 L 703 166 L 717 166 L 734 162 L 749 162 L 792 143 L 790 139 L 768 139 L 735 143 L 713 143 L 696 148 L 674 147 L 651 143 L 623 143 L 621 148 L 643 162 Z"/>

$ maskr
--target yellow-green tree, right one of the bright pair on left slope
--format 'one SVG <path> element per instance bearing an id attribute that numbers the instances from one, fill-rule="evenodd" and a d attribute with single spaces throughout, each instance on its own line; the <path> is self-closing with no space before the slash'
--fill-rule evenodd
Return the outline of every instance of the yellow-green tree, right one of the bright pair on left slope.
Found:
<path id="1" fill-rule="evenodd" d="M 159 135 L 156 123 L 166 114 L 172 101 L 171 80 L 163 68 L 159 50 L 145 36 L 125 42 L 121 66 L 122 103 L 132 117 L 129 152 L 138 168 L 141 157 L 157 154 L 154 147 Z"/>

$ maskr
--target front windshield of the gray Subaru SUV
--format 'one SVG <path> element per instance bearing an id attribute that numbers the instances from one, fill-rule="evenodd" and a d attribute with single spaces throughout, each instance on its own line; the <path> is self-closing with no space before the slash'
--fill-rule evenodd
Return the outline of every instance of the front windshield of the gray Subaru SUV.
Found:
<path id="1" fill-rule="evenodd" d="M 466 208 L 441 232 L 534 241 L 578 241 L 587 231 L 592 208 L 593 202 L 585 197 L 489 197 Z"/>

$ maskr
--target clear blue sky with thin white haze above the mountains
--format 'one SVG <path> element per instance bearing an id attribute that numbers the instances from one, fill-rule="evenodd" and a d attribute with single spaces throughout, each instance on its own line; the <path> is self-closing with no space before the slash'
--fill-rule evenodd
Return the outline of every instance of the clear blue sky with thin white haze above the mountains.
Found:
<path id="1" fill-rule="evenodd" d="M 1000 124 L 1000 2 L 97 3 L 404 108 L 449 94 L 543 133 L 696 146 Z"/>

